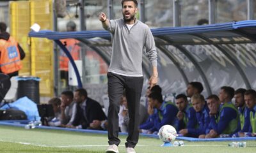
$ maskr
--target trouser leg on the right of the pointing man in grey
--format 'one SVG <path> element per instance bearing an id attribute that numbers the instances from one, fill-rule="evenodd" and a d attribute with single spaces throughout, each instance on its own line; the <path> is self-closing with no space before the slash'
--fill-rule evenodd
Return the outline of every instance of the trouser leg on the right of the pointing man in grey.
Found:
<path id="1" fill-rule="evenodd" d="M 128 137 L 125 147 L 134 148 L 139 139 L 140 124 L 140 97 L 143 86 L 143 77 L 127 77 L 125 92 L 129 111 Z"/>

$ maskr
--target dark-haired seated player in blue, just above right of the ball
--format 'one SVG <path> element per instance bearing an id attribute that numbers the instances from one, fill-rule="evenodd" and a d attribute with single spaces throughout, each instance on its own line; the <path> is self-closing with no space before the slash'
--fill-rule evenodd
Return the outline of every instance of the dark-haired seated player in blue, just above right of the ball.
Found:
<path id="1" fill-rule="evenodd" d="M 192 105 L 188 103 L 188 98 L 185 94 L 179 94 L 175 97 L 175 103 L 179 112 L 177 119 L 179 120 L 177 131 L 186 128 L 196 128 L 196 112 Z"/>

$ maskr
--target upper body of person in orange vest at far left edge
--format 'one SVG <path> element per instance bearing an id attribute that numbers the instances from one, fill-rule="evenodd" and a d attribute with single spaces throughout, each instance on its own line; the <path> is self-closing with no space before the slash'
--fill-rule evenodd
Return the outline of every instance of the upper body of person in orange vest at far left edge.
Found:
<path id="1" fill-rule="evenodd" d="M 6 32 L 6 28 L 6 24 L 0 22 L 0 73 L 12 78 L 19 75 L 25 53 L 19 43 Z"/>

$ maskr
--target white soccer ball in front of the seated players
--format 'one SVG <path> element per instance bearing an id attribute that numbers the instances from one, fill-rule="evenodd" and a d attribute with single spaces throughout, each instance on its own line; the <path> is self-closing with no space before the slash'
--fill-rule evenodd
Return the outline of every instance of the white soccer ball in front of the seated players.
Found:
<path id="1" fill-rule="evenodd" d="M 177 132 L 173 126 L 165 125 L 159 129 L 158 136 L 163 142 L 173 142 L 177 136 Z"/>

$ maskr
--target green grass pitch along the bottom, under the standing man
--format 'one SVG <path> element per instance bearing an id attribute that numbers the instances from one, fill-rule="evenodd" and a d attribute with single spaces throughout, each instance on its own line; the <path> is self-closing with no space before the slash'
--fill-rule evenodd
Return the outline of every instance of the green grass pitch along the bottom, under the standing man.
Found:
<path id="1" fill-rule="evenodd" d="M 120 153 L 125 152 L 125 136 L 120 136 Z M 184 147 L 160 147 L 162 142 L 156 138 L 140 136 L 136 152 L 138 153 L 179 153 L 179 152 L 255 152 L 256 141 L 247 141 L 247 147 L 228 147 L 230 142 L 185 142 Z M 0 152 L 105 152 L 108 136 L 50 129 L 24 129 L 0 126 Z"/>

